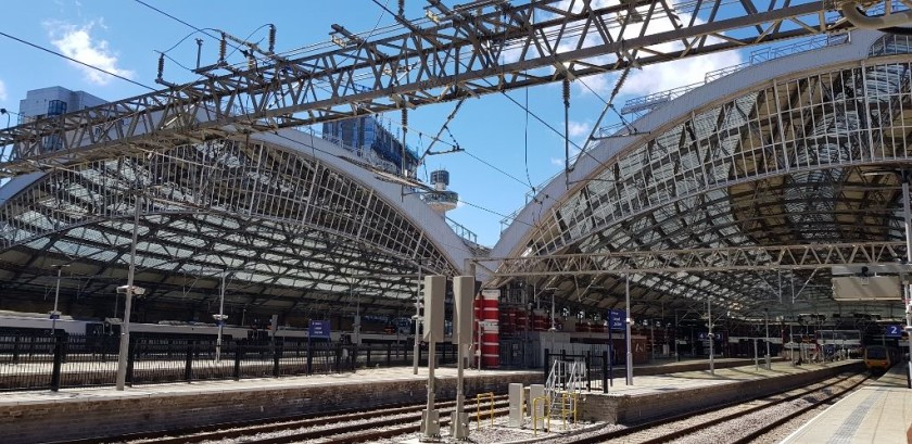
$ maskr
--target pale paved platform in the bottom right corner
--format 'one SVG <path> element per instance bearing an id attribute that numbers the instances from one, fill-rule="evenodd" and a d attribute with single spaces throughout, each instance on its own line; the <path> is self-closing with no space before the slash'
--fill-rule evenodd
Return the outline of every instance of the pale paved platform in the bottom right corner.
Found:
<path id="1" fill-rule="evenodd" d="M 905 371 L 905 363 L 894 366 L 875 384 L 844 397 L 783 443 L 912 444 L 912 390 Z"/>

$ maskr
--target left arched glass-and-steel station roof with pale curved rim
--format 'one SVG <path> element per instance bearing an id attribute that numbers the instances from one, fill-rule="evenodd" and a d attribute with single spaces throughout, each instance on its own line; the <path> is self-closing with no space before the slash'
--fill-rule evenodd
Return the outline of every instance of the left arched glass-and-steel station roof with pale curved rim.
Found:
<path id="1" fill-rule="evenodd" d="M 225 270 L 229 313 L 410 314 L 419 264 L 454 276 L 471 254 L 416 192 L 352 152 L 296 130 L 237 135 L 140 156 L 112 151 L 5 183 L 4 300 L 47 301 L 53 265 L 69 264 L 65 313 L 114 316 L 137 204 L 136 284 L 147 290 L 148 320 L 217 313 Z"/>

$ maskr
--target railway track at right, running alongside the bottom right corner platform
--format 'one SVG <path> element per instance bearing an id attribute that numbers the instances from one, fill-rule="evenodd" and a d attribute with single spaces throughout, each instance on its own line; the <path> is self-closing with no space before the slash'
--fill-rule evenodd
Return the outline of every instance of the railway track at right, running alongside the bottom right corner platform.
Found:
<path id="1" fill-rule="evenodd" d="M 856 390 L 867 380 L 863 375 L 831 378 L 809 388 L 796 389 L 773 396 L 724 407 L 650 421 L 610 432 L 590 432 L 566 436 L 573 443 L 603 443 L 623 440 L 625 443 L 656 444 L 668 442 L 749 443 L 758 436 L 818 406 Z M 787 403 L 805 406 L 783 409 Z M 787 411 L 787 413 L 784 413 Z M 772 419 L 775 418 L 775 419 Z"/>

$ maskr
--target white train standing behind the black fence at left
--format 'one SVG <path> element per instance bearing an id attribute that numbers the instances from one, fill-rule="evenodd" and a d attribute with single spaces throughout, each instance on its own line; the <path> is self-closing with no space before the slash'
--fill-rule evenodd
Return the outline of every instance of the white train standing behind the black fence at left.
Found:
<path id="1" fill-rule="evenodd" d="M 20 313 L 0 310 L 0 333 L 31 332 L 43 335 L 51 335 L 52 330 L 56 334 L 104 337 L 121 334 L 121 319 L 107 318 L 104 320 L 81 320 L 73 319 L 69 316 L 61 316 L 56 320 L 49 319 L 47 315 L 35 313 Z M 198 337 L 201 339 L 214 339 L 218 335 L 218 326 L 204 322 L 183 322 L 163 320 L 159 324 L 130 322 L 130 334 L 154 338 L 185 338 Z M 297 338 L 308 339 L 306 328 L 279 327 L 275 332 L 271 328 L 253 328 L 245 326 L 223 326 L 221 335 L 226 339 L 268 339 L 268 338 Z M 398 329 L 384 329 L 380 332 L 362 332 L 355 334 L 353 331 L 331 331 L 330 338 L 314 338 L 314 340 L 331 342 L 360 342 L 360 343 L 410 343 L 414 335 L 403 333 Z"/>

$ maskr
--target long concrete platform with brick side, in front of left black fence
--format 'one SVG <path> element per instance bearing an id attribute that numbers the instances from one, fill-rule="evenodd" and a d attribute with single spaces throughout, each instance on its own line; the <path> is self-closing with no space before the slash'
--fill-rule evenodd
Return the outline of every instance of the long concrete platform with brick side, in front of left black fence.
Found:
<path id="1" fill-rule="evenodd" d="M 542 383 L 541 371 L 466 371 L 467 395 Z M 0 394 L 3 444 L 93 440 L 214 423 L 281 418 L 427 399 L 427 368 Z M 456 370 L 435 371 L 440 399 L 456 395 Z"/>

